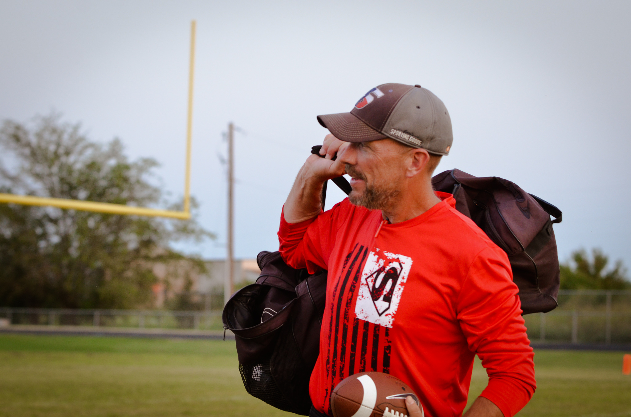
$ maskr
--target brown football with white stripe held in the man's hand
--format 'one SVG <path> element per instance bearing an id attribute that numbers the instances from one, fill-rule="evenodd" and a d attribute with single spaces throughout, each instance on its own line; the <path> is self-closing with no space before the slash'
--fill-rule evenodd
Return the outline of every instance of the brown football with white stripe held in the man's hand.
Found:
<path id="1" fill-rule="evenodd" d="M 335 387 L 331 393 L 331 411 L 333 417 L 406 417 L 408 396 L 423 413 L 418 396 L 402 380 L 382 372 L 360 372 Z"/>

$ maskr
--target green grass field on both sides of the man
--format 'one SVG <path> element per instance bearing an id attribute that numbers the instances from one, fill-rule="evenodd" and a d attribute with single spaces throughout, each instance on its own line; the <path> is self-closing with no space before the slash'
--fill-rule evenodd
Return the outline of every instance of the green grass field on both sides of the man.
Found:
<path id="1" fill-rule="evenodd" d="M 621 352 L 536 352 L 519 416 L 631 416 Z M 487 383 L 476 362 L 471 400 Z M 0 417 L 289 416 L 249 396 L 232 341 L 0 335 Z"/>

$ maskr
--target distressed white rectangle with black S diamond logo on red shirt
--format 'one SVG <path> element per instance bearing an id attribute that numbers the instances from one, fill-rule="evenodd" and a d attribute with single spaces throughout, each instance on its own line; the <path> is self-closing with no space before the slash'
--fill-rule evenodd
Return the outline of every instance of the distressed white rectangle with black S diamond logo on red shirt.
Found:
<path id="1" fill-rule="evenodd" d="M 371 251 L 362 271 L 355 316 L 391 328 L 411 267 L 409 256 Z"/>

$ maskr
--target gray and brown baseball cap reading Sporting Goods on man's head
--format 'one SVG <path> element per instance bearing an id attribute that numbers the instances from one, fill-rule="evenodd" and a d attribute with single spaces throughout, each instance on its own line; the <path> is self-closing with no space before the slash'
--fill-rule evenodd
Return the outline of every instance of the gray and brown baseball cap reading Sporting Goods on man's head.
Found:
<path id="1" fill-rule="evenodd" d="M 390 138 L 437 155 L 448 155 L 454 140 L 444 103 L 418 84 L 381 84 L 350 113 L 320 115 L 317 121 L 345 142 Z"/>

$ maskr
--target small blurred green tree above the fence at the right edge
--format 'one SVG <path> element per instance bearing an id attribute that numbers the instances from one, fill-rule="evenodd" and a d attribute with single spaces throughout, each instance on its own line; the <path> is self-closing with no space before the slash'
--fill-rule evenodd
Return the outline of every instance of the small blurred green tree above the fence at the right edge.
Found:
<path id="1" fill-rule="evenodd" d="M 572 253 L 572 261 L 560 265 L 561 288 L 563 290 L 623 290 L 631 288 L 622 261 L 617 261 L 613 269 L 607 268 L 608 256 L 600 249 L 592 249 L 589 259 L 584 249 Z"/>

